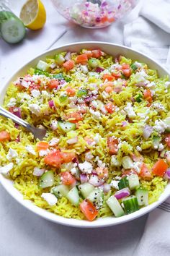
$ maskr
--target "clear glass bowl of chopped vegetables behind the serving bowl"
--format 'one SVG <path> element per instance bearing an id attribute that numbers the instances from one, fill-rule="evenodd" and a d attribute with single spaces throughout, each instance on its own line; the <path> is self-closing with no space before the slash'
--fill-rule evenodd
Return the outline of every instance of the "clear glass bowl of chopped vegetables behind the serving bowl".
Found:
<path id="1" fill-rule="evenodd" d="M 139 0 L 51 0 L 67 20 L 81 27 L 107 27 L 120 20 Z"/>

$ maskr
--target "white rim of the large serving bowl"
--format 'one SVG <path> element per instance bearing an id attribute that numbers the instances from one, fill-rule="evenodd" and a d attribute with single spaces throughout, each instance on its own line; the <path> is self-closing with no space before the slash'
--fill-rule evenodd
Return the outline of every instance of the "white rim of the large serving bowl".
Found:
<path id="1" fill-rule="evenodd" d="M 9 80 L 7 80 L 2 85 L 2 90 L 4 90 L 4 89 L 6 90 L 7 86 L 12 81 L 13 77 L 17 73 L 22 72 L 22 69 L 24 69 L 24 67 L 27 67 L 27 65 L 31 64 L 32 61 L 41 59 L 44 56 L 48 56 L 48 54 L 50 54 L 50 52 L 60 51 L 61 48 L 68 48 L 71 46 L 81 46 L 81 45 L 87 45 L 86 46 L 87 48 L 88 48 L 88 45 L 94 45 L 95 48 L 96 47 L 99 48 L 99 46 L 103 46 L 103 45 L 104 46 L 108 45 L 113 48 L 117 47 L 117 48 L 125 49 L 127 51 L 134 52 L 135 54 L 139 54 L 140 56 L 143 56 L 144 59 L 147 59 L 148 61 L 152 61 L 153 64 L 156 64 L 156 66 L 160 67 L 170 77 L 169 71 L 165 67 L 162 67 L 161 64 L 159 64 L 154 59 L 146 56 L 146 54 L 141 54 L 140 51 L 133 50 L 133 48 L 129 48 L 127 46 L 122 46 L 122 45 L 119 45 L 116 43 L 109 43 L 109 42 L 102 42 L 102 41 L 82 41 L 82 42 L 76 42 L 76 43 L 66 43 L 66 44 L 58 46 L 58 47 L 50 48 L 50 50 L 48 50 L 48 51 L 42 51 L 41 54 L 37 54 L 33 59 L 22 64 L 22 67 L 20 67 L 19 69 L 17 69 L 16 72 L 14 72 L 14 74 L 9 78 Z M 0 98 L 2 98 L 2 97 L 0 97 Z M 151 205 L 141 208 L 140 210 L 138 210 L 134 213 L 131 213 L 130 215 L 125 215 L 125 216 L 122 216 L 119 218 L 115 218 L 114 216 L 107 217 L 107 218 L 99 218 L 93 222 L 90 222 L 90 221 L 85 221 L 85 220 L 77 220 L 77 219 L 73 219 L 73 218 L 65 218 L 62 216 L 58 216 L 55 213 L 50 213 L 48 210 L 39 208 L 38 206 L 34 205 L 33 202 L 31 202 L 30 200 L 24 200 L 23 196 L 19 192 L 19 190 L 14 188 L 12 181 L 9 179 L 6 179 L 5 176 L 3 176 L 2 174 L 0 174 L 0 182 L 1 182 L 2 186 L 4 187 L 4 189 L 6 189 L 6 191 L 9 193 L 9 195 L 11 195 L 21 205 L 23 205 L 24 208 L 29 209 L 30 211 L 32 211 L 32 213 L 35 213 L 37 216 L 41 216 L 42 218 L 45 218 L 48 221 L 53 221 L 54 223 L 60 223 L 64 226 L 79 227 L 79 228 L 99 228 L 99 227 L 106 227 L 106 226 L 115 226 L 120 223 L 132 221 L 135 218 L 139 218 L 140 216 L 143 216 L 146 213 L 149 213 L 151 210 L 158 207 L 158 205 L 160 205 L 162 202 L 164 202 L 170 196 L 170 189 L 167 189 L 167 187 L 170 187 L 170 184 L 167 184 L 164 192 L 161 194 L 159 199 L 156 202 L 153 202 Z"/>

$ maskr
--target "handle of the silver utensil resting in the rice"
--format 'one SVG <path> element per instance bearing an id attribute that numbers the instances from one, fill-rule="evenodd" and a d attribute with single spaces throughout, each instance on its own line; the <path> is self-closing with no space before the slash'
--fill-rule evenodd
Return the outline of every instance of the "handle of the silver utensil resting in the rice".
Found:
<path id="1" fill-rule="evenodd" d="M 27 123 L 27 121 L 24 121 L 23 119 L 20 119 L 18 116 L 15 116 L 11 112 L 7 111 L 5 108 L 2 108 L 0 106 L 0 115 L 7 117 L 9 119 L 12 119 L 15 123 L 21 125 L 22 127 L 28 129 L 30 132 L 32 132 L 32 126 Z"/>

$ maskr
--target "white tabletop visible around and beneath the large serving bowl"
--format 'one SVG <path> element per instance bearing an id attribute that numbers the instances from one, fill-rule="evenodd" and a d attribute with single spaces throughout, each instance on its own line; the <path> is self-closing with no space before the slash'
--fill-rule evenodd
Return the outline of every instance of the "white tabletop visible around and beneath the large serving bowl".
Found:
<path id="1" fill-rule="evenodd" d="M 11 0 L 11 9 L 17 11 L 23 1 Z M 68 29 L 53 47 L 83 40 L 106 40 L 122 44 L 123 24 L 138 16 L 137 8 L 122 22 L 117 22 L 103 30 L 88 30 L 81 27 L 69 27 L 66 20 L 52 9 L 50 1 L 44 0 L 43 3 L 48 19 L 53 19 L 56 23 L 56 33 L 58 25 L 63 25 Z M 14 58 L 15 51 L 17 58 Z M 13 59 L 6 61 L 5 54 L 12 56 Z M 21 58 L 18 46 L 9 46 L 0 40 L 1 86 L 19 67 Z M 129 223 L 103 229 L 76 229 L 61 226 L 35 216 L 34 213 L 19 205 L 0 186 L 0 256 L 133 255 L 143 234 L 146 218 L 147 216 L 143 216 Z"/>

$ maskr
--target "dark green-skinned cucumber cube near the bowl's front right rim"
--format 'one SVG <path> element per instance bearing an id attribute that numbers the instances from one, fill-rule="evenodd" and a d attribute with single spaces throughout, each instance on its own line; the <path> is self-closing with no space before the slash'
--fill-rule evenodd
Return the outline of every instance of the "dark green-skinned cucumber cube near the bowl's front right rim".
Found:
<path id="1" fill-rule="evenodd" d="M 125 207 L 125 212 L 127 214 L 139 210 L 138 199 L 137 197 L 135 197 L 135 195 L 130 195 L 130 197 L 126 197 L 125 199 L 122 200 L 122 203 Z"/>

